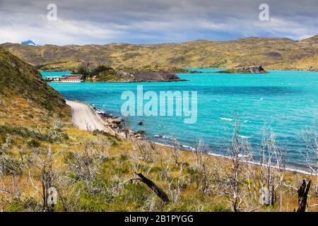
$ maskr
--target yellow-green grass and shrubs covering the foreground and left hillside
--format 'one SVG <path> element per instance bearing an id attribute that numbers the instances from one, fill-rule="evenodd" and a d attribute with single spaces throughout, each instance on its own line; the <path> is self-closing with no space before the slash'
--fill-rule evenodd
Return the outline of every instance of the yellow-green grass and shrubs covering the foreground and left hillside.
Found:
<path id="1" fill-rule="evenodd" d="M 229 143 L 230 160 L 122 138 L 100 131 L 80 131 L 71 124 L 69 107 L 29 64 L 1 50 L 0 209 L 3 211 L 293 211 L 305 176 L 285 171 L 264 157 L 251 157 L 237 122 Z M 108 70 L 110 71 L 110 70 Z M 100 71 L 99 73 L 104 73 Z M 8 83 L 16 78 L 19 83 Z M 33 81 L 37 86 L 32 85 Z M 21 92 L 23 87 L 30 95 Z M 52 109 L 48 109 L 43 102 Z M 266 135 L 267 133 L 265 133 Z M 315 140 L 316 139 L 316 140 Z M 310 138 L 309 142 L 317 141 Z M 317 147 L 315 147 L 317 148 Z M 315 150 L 315 149 L 313 149 Z M 284 160 L 270 133 L 262 151 Z M 310 150 L 311 151 L 311 150 Z M 269 167 L 269 162 L 281 167 Z M 138 173 L 138 176 L 137 174 Z M 141 180 L 142 174 L 163 192 L 164 201 Z M 309 177 L 312 182 L 314 177 Z M 271 203 L 259 203 L 269 188 Z M 295 189 L 296 188 L 296 189 Z M 57 203 L 48 200 L 57 191 Z M 311 186 L 309 211 L 317 211 Z"/>

